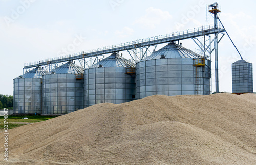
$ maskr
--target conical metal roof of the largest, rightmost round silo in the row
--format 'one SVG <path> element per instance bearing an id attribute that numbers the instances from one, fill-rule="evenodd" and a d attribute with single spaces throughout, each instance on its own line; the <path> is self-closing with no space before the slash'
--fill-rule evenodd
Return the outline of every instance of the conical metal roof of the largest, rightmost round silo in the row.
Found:
<path id="1" fill-rule="evenodd" d="M 164 55 L 166 59 L 168 58 L 203 58 L 199 54 L 182 47 L 174 42 L 169 43 L 158 51 L 153 52 L 150 56 L 144 58 L 141 61 L 160 59 L 161 55 Z"/>

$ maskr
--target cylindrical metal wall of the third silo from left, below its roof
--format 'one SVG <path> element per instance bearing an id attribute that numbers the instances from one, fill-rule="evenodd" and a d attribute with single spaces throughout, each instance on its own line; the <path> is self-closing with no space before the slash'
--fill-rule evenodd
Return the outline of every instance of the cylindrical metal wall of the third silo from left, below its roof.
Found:
<path id="1" fill-rule="evenodd" d="M 124 67 L 84 70 L 84 106 L 98 103 L 119 104 L 135 100 L 135 77 Z"/>

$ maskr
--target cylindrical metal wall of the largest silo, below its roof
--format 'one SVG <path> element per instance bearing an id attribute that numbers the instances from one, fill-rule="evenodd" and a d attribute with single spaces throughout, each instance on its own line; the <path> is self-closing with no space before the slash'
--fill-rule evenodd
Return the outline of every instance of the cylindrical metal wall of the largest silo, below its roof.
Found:
<path id="1" fill-rule="evenodd" d="M 206 64 L 210 66 L 210 61 L 206 60 Z M 153 59 L 138 62 L 136 64 L 137 99 L 156 94 L 169 96 L 210 94 L 210 69 L 206 70 L 208 72 L 206 74 L 203 72 L 203 67 L 197 67 L 196 71 L 193 65 L 192 58 Z M 196 93 L 197 90 L 198 93 Z"/>

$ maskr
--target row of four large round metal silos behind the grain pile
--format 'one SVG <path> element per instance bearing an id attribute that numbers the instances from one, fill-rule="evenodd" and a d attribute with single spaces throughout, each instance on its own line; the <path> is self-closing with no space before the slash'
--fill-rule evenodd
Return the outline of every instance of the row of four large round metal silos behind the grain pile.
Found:
<path id="1" fill-rule="evenodd" d="M 27 77 L 34 72 L 36 76 Z M 48 73 L 37 67 L 14 79 L 14 113 L 67 114 L 98 103 L 119 104 L 155 94 L 210 94 L 210 75 L 209 60 L 175 43 L 136 65 L 113 53 L 84 71 L 72 61 Z"/>

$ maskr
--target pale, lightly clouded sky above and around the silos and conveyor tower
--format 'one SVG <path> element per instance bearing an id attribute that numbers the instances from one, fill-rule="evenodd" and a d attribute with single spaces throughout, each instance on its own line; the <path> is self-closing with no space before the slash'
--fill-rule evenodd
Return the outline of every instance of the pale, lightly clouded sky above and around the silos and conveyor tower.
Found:
<path id="1" fill-rule="evenodd" d="M 13 95 L 13 79 L 23 74 L 25 63 L 213 24 L 205 11 L 214 2 L 0 0 L 0 94 Z M 256 2 L 221 0 L 218 4 L 220 20 L 242 57 L 253 64 L 255 78 Z M 192 39 L 180 42 L 195 52 L 199 49 Z M 218 46 L 219 91 L 232 92 L 231 64 L 240 60 L 239 54 L 227 35 Z M 212 61 L 212 91 L 214 74 Z"/>

